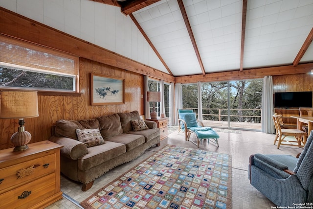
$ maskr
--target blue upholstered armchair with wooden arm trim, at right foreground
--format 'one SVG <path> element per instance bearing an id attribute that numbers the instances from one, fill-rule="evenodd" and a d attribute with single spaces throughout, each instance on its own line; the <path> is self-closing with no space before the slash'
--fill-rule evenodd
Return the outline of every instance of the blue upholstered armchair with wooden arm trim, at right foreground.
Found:
<path id="1" fill-rule="evenodd" d="M 277 206 L 313 203 L 313 131 L 299 158 L 251 155 L 249 179 L 252 186 Z"/>

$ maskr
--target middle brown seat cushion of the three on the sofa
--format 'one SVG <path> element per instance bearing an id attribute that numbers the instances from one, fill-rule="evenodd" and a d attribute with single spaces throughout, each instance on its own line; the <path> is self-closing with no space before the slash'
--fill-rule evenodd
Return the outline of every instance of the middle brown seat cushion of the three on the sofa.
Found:
<path id="1" fill-rule="evenodd" d="M 127 152 L 145 142 L 144 136 L 135 134 L 120 134 L 106 140 L 125 144 Z"/>

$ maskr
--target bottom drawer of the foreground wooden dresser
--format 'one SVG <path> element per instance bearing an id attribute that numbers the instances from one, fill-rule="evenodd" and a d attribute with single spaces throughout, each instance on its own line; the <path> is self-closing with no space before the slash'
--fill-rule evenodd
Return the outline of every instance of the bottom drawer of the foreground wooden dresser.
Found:
<path id="1" fill-rule="evenodd" d="M 30 209 L 55 193 L 55 173 L 30 182 L 0 195 L 3 209 Z"/>

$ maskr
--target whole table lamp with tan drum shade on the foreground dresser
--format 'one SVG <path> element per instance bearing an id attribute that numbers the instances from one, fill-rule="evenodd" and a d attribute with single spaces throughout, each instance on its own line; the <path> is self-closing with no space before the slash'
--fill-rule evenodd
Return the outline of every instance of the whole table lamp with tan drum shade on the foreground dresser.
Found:
<path id="1" fill-rule="evenodd" d="M 30 117 L 38 117 L 37 91 L 1 90 L 0 118 L 19 118 L 18 132 L 11 137 L 11 142 L 15 145 L 13 151 L 28 149 L 31 134 L 25 131 L 24 118 Z"/>

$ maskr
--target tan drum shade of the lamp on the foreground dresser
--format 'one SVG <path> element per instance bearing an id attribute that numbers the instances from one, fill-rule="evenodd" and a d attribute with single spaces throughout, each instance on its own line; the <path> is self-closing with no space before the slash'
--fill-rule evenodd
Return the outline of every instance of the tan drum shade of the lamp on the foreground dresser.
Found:
<path id="1" fill-rule="evenodd" d="M 37 91 L 1 90 L 0 118 L 38 116 Z"/>

